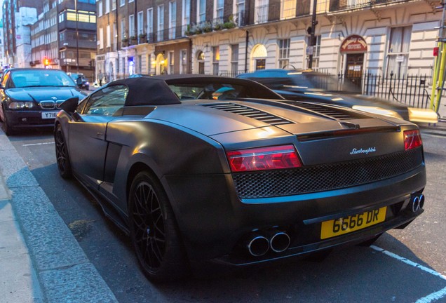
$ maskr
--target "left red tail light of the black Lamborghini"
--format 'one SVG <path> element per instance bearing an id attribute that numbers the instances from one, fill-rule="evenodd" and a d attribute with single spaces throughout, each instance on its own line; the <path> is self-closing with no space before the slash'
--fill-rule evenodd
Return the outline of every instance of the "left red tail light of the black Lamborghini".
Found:
<path id="1" fill-rule="evenodd" d="M 302 166 L 293 145 L 241 149 L 226 154 L 231 171 L 234 173 Z"/>

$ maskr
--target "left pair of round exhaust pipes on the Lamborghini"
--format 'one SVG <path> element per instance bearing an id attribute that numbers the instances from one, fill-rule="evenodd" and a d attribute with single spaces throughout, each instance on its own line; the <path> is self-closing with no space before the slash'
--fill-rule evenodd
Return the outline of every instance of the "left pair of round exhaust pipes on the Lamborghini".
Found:
<path id="1" fill-rule="evenodd" d="M 271 249 L 274 253 L 282 253 L 290 247 L 290 236 L 283 231 L 269 229 L 264 233 L 253 233 L 245 241 L 245 248 L 254 257 L 260 257 Z"/>

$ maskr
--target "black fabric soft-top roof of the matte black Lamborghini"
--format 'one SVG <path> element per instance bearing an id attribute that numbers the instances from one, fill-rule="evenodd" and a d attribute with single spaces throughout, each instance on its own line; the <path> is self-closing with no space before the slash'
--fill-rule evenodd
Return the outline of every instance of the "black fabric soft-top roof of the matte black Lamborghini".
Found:
<path id="1" fill-rule="evenodd" d="M 125 106 L 181 103 L 163 79 L 152 77 L 128 78 L 110 82 L 107 87 L 117 85 L 125 85 L 129 88 Z"/>

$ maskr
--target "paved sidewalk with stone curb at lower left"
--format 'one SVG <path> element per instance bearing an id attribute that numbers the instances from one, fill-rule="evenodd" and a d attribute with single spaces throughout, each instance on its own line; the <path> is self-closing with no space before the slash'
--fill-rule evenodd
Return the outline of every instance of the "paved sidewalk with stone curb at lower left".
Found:
<path id="1" fill-rule="evenodd" d="M 0 130 L 0 301 L 118 302 Z"/>

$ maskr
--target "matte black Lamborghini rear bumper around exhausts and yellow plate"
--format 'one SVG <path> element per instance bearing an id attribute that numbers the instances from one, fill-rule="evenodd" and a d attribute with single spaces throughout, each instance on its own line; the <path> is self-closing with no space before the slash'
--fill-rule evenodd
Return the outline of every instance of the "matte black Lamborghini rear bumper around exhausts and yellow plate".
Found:
<path id="1" fill-rule="evenodd" d="M 405 226 L 423 210 L 410 212 L 414 192 L 426 184 L 424 164 L 403 175 L 356 187 L 273 198 L 238 198 L 231 175 L 166 176 L 189 260 L 234 266 L 280 260 L 346 243 L 358 243 Z M 170 185 L 167 185 L 170 184 Z M 191 185 L 193 184 L 193 185 Z M 386 220 L 342 236 L 320 239 L 321 222 L 387 206 Z M 275 227 L 291 238 L 282 253 L 248 255 L 241 240 L 252 231 Z"/>

